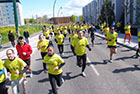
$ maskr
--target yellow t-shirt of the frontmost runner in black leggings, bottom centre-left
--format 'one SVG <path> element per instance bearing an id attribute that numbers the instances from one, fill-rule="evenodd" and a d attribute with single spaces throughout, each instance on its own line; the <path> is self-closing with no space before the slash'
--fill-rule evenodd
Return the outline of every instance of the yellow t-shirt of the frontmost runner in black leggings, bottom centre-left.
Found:
<path id="1" fill-rule="evenodd" d="M 48 66 L 48 73 L 53 75 L 58 75 L 62 73 L 62 68 L 58 70 L 54 70 L 55 67 L 59 66 L 59 64 L 63 64 L 64 60 L 57 54 L 53 56 L 46 55 L 43 59 L 43 62 Z"/>

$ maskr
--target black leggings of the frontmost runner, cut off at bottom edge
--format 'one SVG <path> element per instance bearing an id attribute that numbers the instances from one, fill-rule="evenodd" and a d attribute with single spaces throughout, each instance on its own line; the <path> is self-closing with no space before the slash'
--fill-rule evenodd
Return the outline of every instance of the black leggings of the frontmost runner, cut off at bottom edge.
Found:
<path id="1" fill-rule="evenodd" d="M 56 84 L 59 87 L 62 85 L 62 73 L 58 74 L 58 75 L 53 75 L 53 74 L 49 73 L 48 75 L 49 75 L 49 80 L 50 80 L 50 84 L 51 84 L 51 87 L 52 87 L 52 92 L 54 94 L 58 94 Z"/>

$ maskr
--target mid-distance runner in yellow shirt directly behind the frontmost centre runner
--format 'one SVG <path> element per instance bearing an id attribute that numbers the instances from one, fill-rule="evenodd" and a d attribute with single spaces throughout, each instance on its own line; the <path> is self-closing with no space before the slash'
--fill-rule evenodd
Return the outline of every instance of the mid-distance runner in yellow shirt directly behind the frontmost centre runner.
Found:
<path id="1" fill-rule="evenodd" d="M 58 34 L 55 36 L 55 42 L 57 43 L 60 56 L 62 57 L 64 51 L 64 35 L 61 34 L 60 30 L 58 30 Z"/>

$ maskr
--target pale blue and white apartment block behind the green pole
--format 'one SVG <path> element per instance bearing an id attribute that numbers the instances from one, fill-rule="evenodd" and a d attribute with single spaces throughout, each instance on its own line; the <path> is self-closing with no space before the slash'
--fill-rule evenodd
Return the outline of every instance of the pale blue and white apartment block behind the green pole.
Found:
<path id="1" fill-rule="evenodd" d="M 17 0 L 17 15 L 18 25 L 24 25 L 22 6 L 19 0 Z M 14 10 L 13 0 L 0 0 L 0 26 L 14 26 Z"/>

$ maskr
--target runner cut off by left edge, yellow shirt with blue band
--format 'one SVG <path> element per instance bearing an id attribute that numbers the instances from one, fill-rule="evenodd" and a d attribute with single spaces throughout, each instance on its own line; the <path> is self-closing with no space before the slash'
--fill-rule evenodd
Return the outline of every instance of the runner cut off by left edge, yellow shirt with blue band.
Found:
<path id="1" fill-rule="evenodd" d="M 0 59 L 0 94 L 8 94 L 7 83 L 3 61 Z"/>

